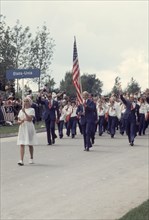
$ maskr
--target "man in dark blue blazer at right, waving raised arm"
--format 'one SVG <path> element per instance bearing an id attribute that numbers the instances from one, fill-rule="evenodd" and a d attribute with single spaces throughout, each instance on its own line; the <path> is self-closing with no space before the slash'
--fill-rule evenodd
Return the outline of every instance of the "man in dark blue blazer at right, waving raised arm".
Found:
<path id="1" fill-rule="evenodd" d="M 126 106 L 124 112 L 124 119 L 126 125 L 126 134 L 131 146 L 134 146 L 134 139 L 136 137 L 136 122 L 139 118 L 139 105 L 134 102 L 134 96 L 130 95 L 129 99 L 125 99 L 122 95 L 122 90 L 119 88 L 120 98 Z"/>

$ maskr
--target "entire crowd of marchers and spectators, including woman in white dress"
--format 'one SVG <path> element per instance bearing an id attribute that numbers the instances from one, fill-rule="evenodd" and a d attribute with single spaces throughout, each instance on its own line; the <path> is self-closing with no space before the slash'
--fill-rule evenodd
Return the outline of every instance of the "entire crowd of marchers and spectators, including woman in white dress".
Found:
<path id="1" fill-rule="evenodd" d="M 37 144 L 34 123 L 44 120 L 47 144 L 55 144 L 57 135 L 75 138 L 77 127 L 83 137 L 84 151 L 89 151 L 95 141 L 95 134 L 107 132 L 114 138 L 116 130 L 128 136 L 130 146 L 134 146 L 137 135 L 145 135 L 149 125 L 149 97 L 142 94 L 123 94 L 111 97 L 94 97 L 87 91 L 82 93 L 83 103 L 71 99 L 65 93 L 55 94 L 41 90 L 36 98 L 32 94 L 24 100 L 0 96 L 0 124 L 18 123 L 17 144 L 20 145 L 19 165 L 23 165 L 24 146 L 29 146 L 30 163 L 33 163 L 33 145 Z M 66 129 L 66 133 L 64 133 Z"/>

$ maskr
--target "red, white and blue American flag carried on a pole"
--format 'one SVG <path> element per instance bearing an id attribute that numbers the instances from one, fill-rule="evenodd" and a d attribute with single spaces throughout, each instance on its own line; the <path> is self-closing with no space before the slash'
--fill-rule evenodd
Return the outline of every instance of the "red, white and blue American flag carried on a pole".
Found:
<path id="1" fill-rule="evenodd" d="M 74 47 L 73 47 L 73 69 L 72 69 L 72 79 L 73 84 L 77 91 L 77 99 L 79 104 L 83 103 L 82 99 L 82 86 L 80 81 L 80 69 L 79 69 L 79 61 L 78 61 L 78 53 L 77 53 L 77 45 L 76 38 L 74 38 Z"/>

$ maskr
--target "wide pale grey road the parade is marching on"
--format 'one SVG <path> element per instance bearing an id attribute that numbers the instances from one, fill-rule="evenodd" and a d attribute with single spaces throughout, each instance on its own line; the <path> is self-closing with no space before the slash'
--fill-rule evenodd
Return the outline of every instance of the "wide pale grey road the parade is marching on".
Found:
<path id="1" fill-rule="evenodd" d="M 35 164 L 17 165 L 17 137 L 1 138 L 1 220 L 118 219 L 148 199 L 148 135 L 96 135 L 90 152 L 82 136 L 47 146 L 38 133 Z"/>

